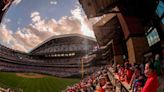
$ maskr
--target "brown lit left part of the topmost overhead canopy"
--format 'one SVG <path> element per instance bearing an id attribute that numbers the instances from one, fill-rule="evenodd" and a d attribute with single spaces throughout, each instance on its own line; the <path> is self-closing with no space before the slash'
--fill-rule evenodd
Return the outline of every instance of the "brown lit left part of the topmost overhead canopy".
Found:
<path id="1" fill-rule="evenodd" d="M 101 16 L 112 11 L 117 0 L 79 0 L 88 18 Z"/>

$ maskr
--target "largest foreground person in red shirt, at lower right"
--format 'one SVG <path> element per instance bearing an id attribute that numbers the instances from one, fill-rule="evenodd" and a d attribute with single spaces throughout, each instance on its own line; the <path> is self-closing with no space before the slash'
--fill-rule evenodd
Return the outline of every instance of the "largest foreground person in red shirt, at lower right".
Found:
<path id="1" fill-rule="evenodd" d="M 156 92 L 158 88 L 158 78 L 153 63 L 146 63 L 145 76 L 147 77 L 147 81 L 142 89 L 142 92 Z"/>

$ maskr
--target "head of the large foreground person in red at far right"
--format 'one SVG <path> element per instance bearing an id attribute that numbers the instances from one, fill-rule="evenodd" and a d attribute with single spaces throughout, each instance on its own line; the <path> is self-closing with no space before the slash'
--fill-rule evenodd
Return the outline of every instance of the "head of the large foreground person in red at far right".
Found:
<path id="1" fill-rule="evenodd" d="M 145 76 L 148 77 L 152 72 L 154 72 L 154 65 L 152 62 L 148 62 L 145 65 Z"/>

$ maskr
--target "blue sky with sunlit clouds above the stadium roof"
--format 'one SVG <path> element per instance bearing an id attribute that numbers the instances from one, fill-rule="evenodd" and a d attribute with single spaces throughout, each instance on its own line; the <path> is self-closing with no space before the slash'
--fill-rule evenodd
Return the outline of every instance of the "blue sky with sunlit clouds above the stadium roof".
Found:
<path id="1" fill-rule="evenodd" d="M 95 37 L 78 0 L 15 0 L 0 25 L 0 44 L 29 52 L 54 35 Z"/>

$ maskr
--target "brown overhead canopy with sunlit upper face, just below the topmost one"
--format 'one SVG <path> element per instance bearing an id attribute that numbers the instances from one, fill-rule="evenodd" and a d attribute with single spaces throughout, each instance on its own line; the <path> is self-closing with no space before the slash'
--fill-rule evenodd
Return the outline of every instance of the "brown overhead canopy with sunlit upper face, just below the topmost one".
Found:
<path id="1" fill-rule="evenodd" d="M 110 20 L 110 21 L 109 21 Z M 119 23 L 115 14 L 107 14 L 99 22 L 94 24 L 93 29 L 100 46 L 105 46 L 113 39 Z"/>

